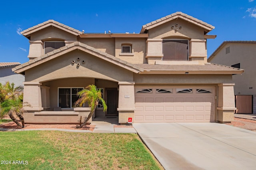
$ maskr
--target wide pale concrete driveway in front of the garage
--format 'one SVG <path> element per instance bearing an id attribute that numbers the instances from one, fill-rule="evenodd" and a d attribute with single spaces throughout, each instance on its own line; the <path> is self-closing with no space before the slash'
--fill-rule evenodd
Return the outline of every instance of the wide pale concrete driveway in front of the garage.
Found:
<path id="1" fill-rule="evenodd" d="M 133 123 L 166 170 L 255 170 L 256 132 L 219 123 Z"/>

